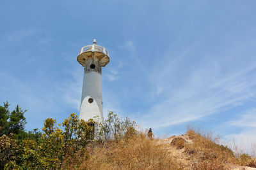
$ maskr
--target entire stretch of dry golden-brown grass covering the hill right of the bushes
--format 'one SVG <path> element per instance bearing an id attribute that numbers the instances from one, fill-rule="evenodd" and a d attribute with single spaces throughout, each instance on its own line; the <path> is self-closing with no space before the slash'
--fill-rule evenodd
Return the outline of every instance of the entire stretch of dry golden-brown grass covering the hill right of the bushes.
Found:
<path id="1" fill-rule="evenodd" d="M 227 146 L 216 144 L 212 133 L 188 128 L 185 136 L 149 139 L 139 133 L 129 139 L 91 143 L 84 157 L 65 169 L 232 169 L 256 167 L 256 160 L 236 157 Z M 178 155 L 179 154 L 179 155 Z M 80 155 L 81 156 L 81 155 Z M 185 161 L 186 160 L 186 161 Z"/>

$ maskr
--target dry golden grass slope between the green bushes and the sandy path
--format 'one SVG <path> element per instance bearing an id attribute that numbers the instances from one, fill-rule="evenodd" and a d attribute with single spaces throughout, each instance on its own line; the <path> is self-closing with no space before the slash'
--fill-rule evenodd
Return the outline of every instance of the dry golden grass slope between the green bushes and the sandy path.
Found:
<path id="1" fill-rule="evenodd" d="M 179 169 L 175 160 L 145 134 L 93 148 L 81 169 Z"/>

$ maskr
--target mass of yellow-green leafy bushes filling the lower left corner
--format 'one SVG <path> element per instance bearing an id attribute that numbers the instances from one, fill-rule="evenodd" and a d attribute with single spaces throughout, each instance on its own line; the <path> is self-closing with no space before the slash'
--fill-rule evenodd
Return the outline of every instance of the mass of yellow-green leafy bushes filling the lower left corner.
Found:
<path id="1" fill-rule="evenodd" d="M 6 108 L 0 110 L 8 115 Z M 17 110 L 19 108 L 15 115 Z M 6 121 L 8 123 L 8 119 Z M 47 118 L 42 128 L 43 133 L 38 132 L 38 129 L 24 132 L 22 126 L 17 127 L 20 127 L 19 133 L 0 136 L 0 169 L 65 169 L 70 162 L 78 163 L 77 155 L 86 155 L 85 146 L 92 138 L 93 131 L 93 127 L 84 120 L 78 120 L 75 113 L 58 125 L 56 120 Z"/>

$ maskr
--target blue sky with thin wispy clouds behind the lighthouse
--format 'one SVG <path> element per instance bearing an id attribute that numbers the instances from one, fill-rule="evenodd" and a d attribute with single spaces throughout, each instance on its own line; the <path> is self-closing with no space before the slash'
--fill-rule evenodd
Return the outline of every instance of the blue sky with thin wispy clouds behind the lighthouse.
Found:
<path id="1" fill-rule="evenodd" d="M 79 113 L 84 45 L 106 47 L 104 115 L 158 136 L 200 125 L 256 143 L 256 1 L 1 1 L 0 101 L 27 129 Z"/>

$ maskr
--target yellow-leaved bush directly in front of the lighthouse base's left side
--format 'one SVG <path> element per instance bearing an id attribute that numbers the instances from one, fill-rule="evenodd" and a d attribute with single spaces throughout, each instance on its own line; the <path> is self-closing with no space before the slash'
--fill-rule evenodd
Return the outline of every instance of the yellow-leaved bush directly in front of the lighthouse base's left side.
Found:
<path id="1" fill-rule="evenodd" d="M 60 127 L 64 128 L 63 131 Z M 63 167 L 65 169 L 65 166 L 76 161 L 78 153 L 86 154 L 84 147 L 92 138 L 90 135 L 93 127 L 90 127 L 84 120 L 78 120 L 77 115 L 72 113 L 62 124 L 58 125 L 56 125 L 56 120 L 47 118 L 42 130 L 44 131 L 42 135 L 44 142 L 40 147 L 42 148 L 42 157 L 45 158 L 44 162 L 47 163 L 45 168 L 59 169 Z"/>

